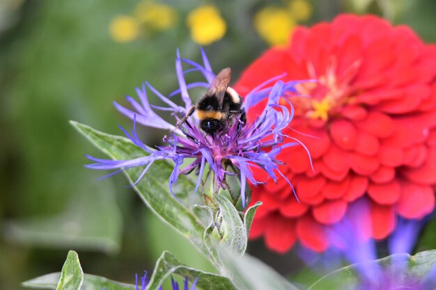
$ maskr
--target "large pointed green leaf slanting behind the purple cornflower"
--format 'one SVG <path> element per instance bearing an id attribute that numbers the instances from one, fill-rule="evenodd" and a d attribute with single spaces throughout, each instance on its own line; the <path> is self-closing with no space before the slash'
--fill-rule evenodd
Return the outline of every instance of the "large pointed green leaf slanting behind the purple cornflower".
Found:
<path id="1" fill-rule="evenodd" d="M 127 138 L 104 134 L 77 122 L 71 122 L 71 124 L 111 159 L 129 160 L 145 155 L 141 148 Z M 169 191 L 168 181 L 172 171 L 173 165 L 171 163 L 162 160 L 155 161 L 146 176 L 134 186 L 134 189 L 155 214 L 172 225 L 178 232 L 187 236 L 201 252 L 208 256 L 208 249 L 203 243 L 205 226 L 194 214 L 192 208 L 176 200 Z M 132 184 L 132 180 L 137 180 L 141 172 L 142 168 L 130 168 L 125 174 Z M 180 200 L 193 198 L 194 188 L 194 182 L 183 175 L 174 185 L 174 191 Z M 194 203 L 189 200 L 188 204 L 193 205 Z"/>

